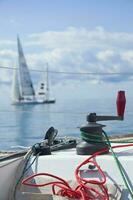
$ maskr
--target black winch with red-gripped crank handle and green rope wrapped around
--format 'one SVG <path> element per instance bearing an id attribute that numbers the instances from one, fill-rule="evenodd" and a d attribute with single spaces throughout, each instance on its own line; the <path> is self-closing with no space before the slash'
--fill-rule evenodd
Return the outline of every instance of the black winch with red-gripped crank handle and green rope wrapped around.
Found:
<path id="1" fill-rule="evenodd" d="M 118 91 L 116 105 L 117 116 L 99 116 L 96 113 L 87 115 L 87 124 L 80 128 L 82 141 L 76 146 L 78 155 L 90 155 L 103 148 L 108 148 L 108 144 L 103 137 L 103 127 L 105 125 L 99 124 L 97 121 L 124 120 L 125 91 Z"/>

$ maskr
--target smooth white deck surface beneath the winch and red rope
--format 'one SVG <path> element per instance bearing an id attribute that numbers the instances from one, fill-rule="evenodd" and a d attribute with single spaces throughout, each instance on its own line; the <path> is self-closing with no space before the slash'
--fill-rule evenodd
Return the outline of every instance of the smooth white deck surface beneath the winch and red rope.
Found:
<path id="1" fill-rule="evenodd" d="M 116 149 L 119 160 L 124 167 L 127 177 L 133 185 L 133 147 Z M 76 167 L 87 159 L 89 156 L 76 155 L 75 149 L 58 151 L 48 156 L 40 156 L 37 162 L 33 165 L 32 170 L 35 173 L 51 173 L 65 180 L 75 180 L 74 172 Z M 96 161 L 107 176 L 108 183 L 116 183 L 122 185 L 124 182 L 114 161 L 113 156 L 110 154 L 97 156 Z M 84 168 L 85 169 L 85 168 Z M 87 173 L 86 173 L 87 172 Z M 92 178 L 92 173 L 88 173 L 86 169 L 82 171 L 82 176 Z M 93 178 L 97 178 L 97 170 L 93 173 Z M 126 194 L 127 195 L 127 194 Z M 128 199 L 128 195 L 122 199 Z"/>

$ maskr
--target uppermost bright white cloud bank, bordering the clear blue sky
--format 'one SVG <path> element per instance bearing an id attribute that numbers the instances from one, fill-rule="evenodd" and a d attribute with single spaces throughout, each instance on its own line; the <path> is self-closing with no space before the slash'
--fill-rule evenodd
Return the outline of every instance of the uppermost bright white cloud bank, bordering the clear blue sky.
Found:
<path id="1" fill-rule="evenodd" d="M 86 28 L 68 28 L 65 31 L 47 31 L 29 36 L 27 45 L 44 45 L 46 48 L 83 49 L 88 47 L 126 46 L 133 42 L 133 34 L 108 32 L 102 27 L 94 30 Z M 130 44 L 131 45 L 131 44 Z"/>

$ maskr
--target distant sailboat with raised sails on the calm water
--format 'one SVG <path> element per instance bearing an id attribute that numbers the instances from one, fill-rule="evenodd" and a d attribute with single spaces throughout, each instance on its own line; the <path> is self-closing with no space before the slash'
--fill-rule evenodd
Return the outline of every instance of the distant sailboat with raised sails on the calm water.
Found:
<path id="1" fill-rule="evenodd" d="M 38 94 L 36 94 L 19 37 L 17 38 L 17 44 L 18 44 L 19 67 L 17 70 L 15 70 L 13 77 L 12 103 L 13 104 L 55 103 L 55 99 L 49 99 L 48 67 L 47 67 L 46 84 L 41 83 L 40 91 Z"/>

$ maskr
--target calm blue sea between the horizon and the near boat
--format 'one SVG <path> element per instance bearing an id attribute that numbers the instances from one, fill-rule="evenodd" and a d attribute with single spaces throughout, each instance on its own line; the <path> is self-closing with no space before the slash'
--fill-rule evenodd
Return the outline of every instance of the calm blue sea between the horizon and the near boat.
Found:
<path id="1" fill-rule="evenodd" d="M 114 100 L 58 100 L 51 105 L 13 106 L 0 102 L 0 149 L 30 146 L 39 142 L 45 131 L 54 126 L 59 135 L 79 136 L 79 126 L 86 123 L 86 114 L 115 114 Z M 124 122 L 102 122 L 108 134 L 133 132 L 132 100 L 127 101 Z"/>

